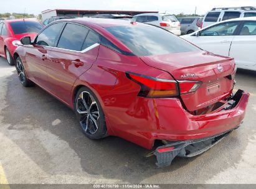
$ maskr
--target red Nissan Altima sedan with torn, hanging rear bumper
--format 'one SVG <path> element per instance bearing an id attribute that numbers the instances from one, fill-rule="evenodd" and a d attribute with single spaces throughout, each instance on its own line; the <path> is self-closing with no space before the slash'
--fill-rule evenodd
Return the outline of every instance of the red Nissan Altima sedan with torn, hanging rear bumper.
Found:
<path id="1" fill-rule="evenodd" d="M 22 85 L 36 83 L 67 104 L 90 139 L 156 148 L 158 166 L 201 154 L 244 119 L 249 93 L 232 93 L 234 59 L 159 27 L 61 20 L 21 43 L 14 58 Z"/>

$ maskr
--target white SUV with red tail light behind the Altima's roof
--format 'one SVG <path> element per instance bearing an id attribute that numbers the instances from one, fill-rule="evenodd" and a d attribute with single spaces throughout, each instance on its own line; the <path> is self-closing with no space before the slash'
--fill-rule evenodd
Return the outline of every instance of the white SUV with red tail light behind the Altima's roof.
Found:
<path id="1" fill-rule="evenodd" d="M 132 21 L 156 25 L 169 30 L 175 35 L 181 35 L 181 24 L 174 15 L 159 13 L 137 14 Z"/>

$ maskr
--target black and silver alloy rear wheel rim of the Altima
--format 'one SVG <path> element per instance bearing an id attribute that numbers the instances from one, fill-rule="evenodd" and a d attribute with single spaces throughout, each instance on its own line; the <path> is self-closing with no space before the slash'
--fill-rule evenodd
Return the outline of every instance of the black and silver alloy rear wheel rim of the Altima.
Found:
<path id="1" fill-rule="evenodd" d="M 89 135 L 98 131 L 98 119 L 100 113 L 98 105 L 92 94 L 82 91 L 77 98 L 77 112 L 82 129 Z"/>

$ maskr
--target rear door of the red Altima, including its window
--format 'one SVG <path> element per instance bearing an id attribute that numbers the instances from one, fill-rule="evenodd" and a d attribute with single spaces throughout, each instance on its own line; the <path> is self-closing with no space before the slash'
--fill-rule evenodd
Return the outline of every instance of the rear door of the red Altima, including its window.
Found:
<path id="1" fill-rule="evenodd" d="M 47 52 L 50 92 L 70 104 L 73 83 L 97 59 L 100 37 L 93 30 L 67 23 L 57 47 Z"/>

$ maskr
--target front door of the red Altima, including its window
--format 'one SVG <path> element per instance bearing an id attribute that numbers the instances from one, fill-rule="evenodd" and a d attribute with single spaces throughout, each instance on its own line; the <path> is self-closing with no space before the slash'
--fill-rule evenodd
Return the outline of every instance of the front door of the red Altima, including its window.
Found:
<path id="1" fill-rule="evenodd" d="M 34 44 L 24 45 L 26 48 L 26 70 L 29 78 L 49 90 L 47 77 L 48 51 L 55 46 L 60 31 L 64 26 L 63 22 L 51 24 L 37 35 Z"/>

